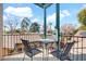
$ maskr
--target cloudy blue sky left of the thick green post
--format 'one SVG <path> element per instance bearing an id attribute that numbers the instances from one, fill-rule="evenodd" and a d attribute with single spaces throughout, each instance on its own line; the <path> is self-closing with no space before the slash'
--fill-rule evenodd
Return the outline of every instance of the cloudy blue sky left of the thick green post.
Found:
<path id="1" fill-rule="evenodd" d="M 3 21 L 8 25 L 8 21 L 13 16 L 21 23 L 23 17 L 28 17 L 32 22 L 44 24 L 44 10 L 32 3 L 4 3 L 3 4 Z M 47 9 L 47 21 L 53 23 L 54 20 L 54 4 Z M 52 16 L 52 17 L 51 17 Z M 49 22 L 47 24 L 49 24 Z M 14 22 L 15 23 L 15 22 Z M 53 23 L 54 25 L 54 23 Z M 20 27 L 20 24 L 17 28 Z"/>

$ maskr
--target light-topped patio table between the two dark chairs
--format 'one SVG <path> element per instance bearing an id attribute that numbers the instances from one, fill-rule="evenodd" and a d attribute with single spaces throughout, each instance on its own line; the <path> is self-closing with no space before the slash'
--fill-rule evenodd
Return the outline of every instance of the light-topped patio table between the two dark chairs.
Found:
<path id="1" fill-rule="evenodd" d="M 29 40 L 30 41 L 30 40 Z M 38 39 L 38 40 L 36 40 L 36 41 L 30 41 L 30 42 L 40 42 L 40 43 L 42 43 L 44 44 L 44 48 L 42 48 L 42 60 L 45 61 L 48 61 L 48 54 L 49 54 L 49 49 L 47 48 L 47 46 L 49 44 L 49 43 L 52 43 L 52 42 L 57 42 L 58 40 L 53 40 L 53 39 Z"/>

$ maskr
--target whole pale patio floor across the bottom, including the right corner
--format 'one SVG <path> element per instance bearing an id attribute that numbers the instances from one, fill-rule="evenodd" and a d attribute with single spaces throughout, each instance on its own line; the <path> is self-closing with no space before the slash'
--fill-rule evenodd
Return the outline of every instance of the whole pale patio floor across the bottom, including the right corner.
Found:
<path id="1" fill-rule="evenodd" d="M 83 49 L 83 51 L 85 52 L 86 50 Z M 79 52 L 77 54 L 76 50 L 74 50 L 74 53 L 73 53 L 73 51 L 71 51 L 70 57 L 71 57 L 71 60 L 74 60 L 74 61 L 82 61 L 82 60 L 86 61 L 86 52 L 85 53 L 84 52 L 83 52 L 83 54 L 81 54 L 82 50 L 79 50 Z M 23 57 L 24 57 L 24 53 L 19 53 L 19 54 L 3 56 L 2 61 L 23 61 Z M 30 61 L 30 57 L 25 55 L 25 61 Z M 59 61 L 59 60 L 57 57 L 54 57 L 52 54 L 48 54 L 46 56 L 41 52 L 41 53 L 35 55 L 33 57 L 33 61 Z"/>

